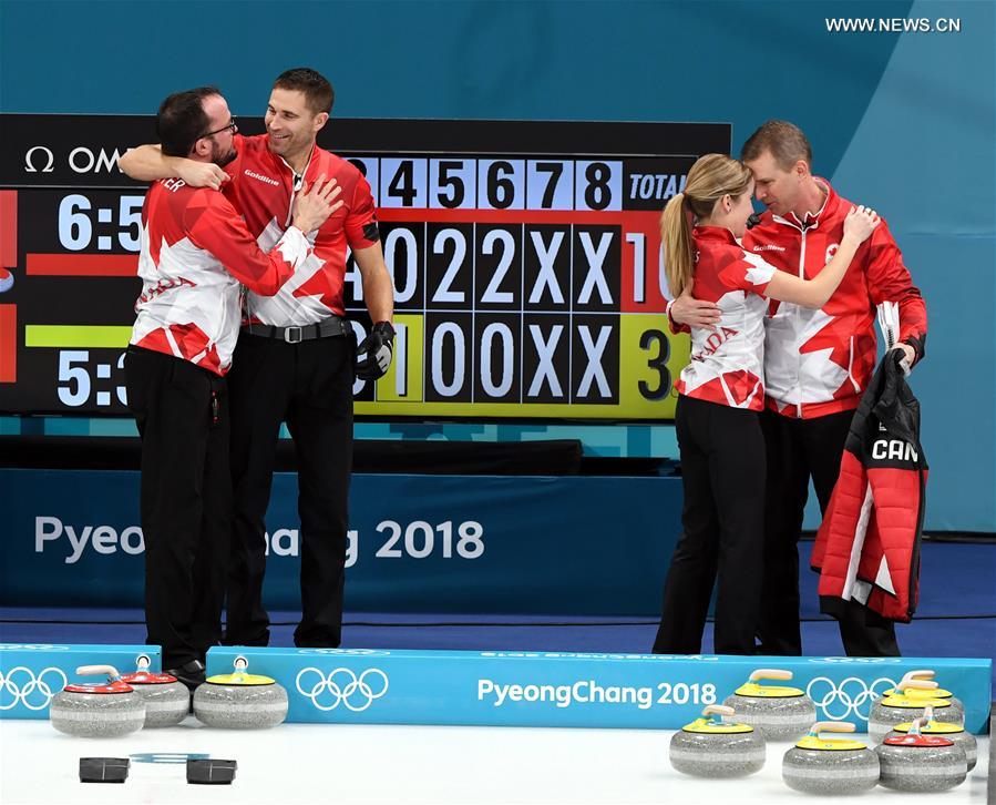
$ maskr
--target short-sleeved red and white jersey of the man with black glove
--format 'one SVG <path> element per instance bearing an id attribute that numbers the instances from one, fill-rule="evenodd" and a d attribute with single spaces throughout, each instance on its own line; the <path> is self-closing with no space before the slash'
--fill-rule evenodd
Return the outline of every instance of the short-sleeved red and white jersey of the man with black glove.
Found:
<path id="1" fill-rule="evenodd" d="M 295 176 L 283 157 L 271 153 L 267 136 L 235 137 L 238 157 L 226 166 L 232 181 L 225 194 L 245 216 L 260 248 L 269 249 L 290 225 L 301 179 L 310 186 L 321 174 L 335 177 L 343 202 L 316 233 L 309 233 L 314 254 L 294 278 L 271 297 L 246 295 L 246 318 L 276 327 L 315 324 L 345 315 L 342 284 L 347 246 L 366 248 L 379 240 L 373 196 L 363 174 L 350 162 L 319 149 L 311 153 L 302 176 Z"/>

